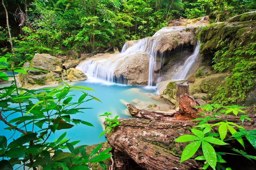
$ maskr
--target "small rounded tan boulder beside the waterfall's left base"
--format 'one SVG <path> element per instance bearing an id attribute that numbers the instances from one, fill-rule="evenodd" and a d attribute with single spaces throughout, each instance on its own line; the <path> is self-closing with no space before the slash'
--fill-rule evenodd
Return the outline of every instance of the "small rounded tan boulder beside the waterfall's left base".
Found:
<path id="1" fill-rule="evenodd" d="M 70 68 L 63 70 L 62 79 L 67 79 L 70 82 L 76 82 L 87 79 L 87 76 L 79 69 Z"/>

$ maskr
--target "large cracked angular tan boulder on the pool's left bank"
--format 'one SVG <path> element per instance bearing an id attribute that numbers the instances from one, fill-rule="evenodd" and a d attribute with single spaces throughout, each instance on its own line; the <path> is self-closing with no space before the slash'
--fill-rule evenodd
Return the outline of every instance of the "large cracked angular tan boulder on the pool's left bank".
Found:
<path id="1" fill-rule="evenodd" d="M 26 64 L 25 66 L 27 66 Z M 49 54 L 35 54 L 31 60 L 30 68 L 37 68 L 45 72 L 29 70 L 28 74 L 18 74 L 21 85 L 31 87 L 31 85 L 56 84 L 56 79 L 61 79 L 62 61 Z"/>

